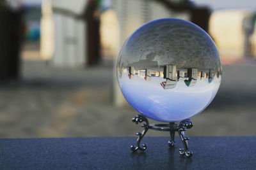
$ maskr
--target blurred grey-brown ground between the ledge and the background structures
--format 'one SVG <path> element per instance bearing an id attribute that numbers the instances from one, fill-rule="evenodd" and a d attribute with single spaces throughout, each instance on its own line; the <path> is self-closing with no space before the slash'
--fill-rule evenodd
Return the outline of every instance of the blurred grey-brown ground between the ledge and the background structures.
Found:
<path id="1" fill-rule="evenodd" d="M 188 135 L 255 136 L 255 72 L 253 61 L 223 66 L 217 96 L 192 118 Z M 142 130 L 131 122 L 136 112 L 111 103 L 112 78 L 113 60 L 75 70 L 23 59 L 20 80 L 0 87 L 0 138 L 135 136 Z"/>

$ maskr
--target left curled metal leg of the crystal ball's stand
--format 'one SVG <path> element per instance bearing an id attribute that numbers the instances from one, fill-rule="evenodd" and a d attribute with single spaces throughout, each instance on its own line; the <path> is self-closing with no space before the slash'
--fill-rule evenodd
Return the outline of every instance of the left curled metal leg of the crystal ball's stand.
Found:
<path id="1" fill-rule="evenodd" d="M 146 150 L 147 149 L 147 145 L 145 143 L 143 143 L 142 147 L 140 146 L 140 142 L 141 139 L 143 138 L 143 136 L 145 136 L 145 134 L 148 131 L 148 120 L 147 118 L 141 116 L 141 115 L 136 115 L 136 117 L 132 118 L 132 122 L 135 122 L 136 124 L 141 123 L 141 122 L 145 122 L 146 124 L 141 124 L 141 127 L 144 127 L 144 131 L 141 132 L 137 132 L 136 135 L 138 135 L 138 139 L 137 139 L 137 146 L 132 145 L 131 146 L 131 150 L 133 152 L 135 152 L 136 150 Z"/>

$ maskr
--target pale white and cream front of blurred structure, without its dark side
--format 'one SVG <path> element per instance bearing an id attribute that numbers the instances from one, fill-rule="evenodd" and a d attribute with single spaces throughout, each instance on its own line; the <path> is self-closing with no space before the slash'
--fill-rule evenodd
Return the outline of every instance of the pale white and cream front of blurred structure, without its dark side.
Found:
<path id="1" fill-rule="evenodd" d="M 41 49 L 45 60 L 54 66 L 84 66 L 86 41 L 85 23 L 77 19 L 86 5 L 79 1 L 42 1 Z"/>

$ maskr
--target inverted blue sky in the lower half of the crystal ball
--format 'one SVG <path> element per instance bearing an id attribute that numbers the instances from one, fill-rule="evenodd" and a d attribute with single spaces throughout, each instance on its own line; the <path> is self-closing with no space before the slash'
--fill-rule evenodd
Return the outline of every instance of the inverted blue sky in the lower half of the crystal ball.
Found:
<path id="1" fill-rule="evenodd" d="M 120 89 L 125 99 L 142 115 L 161 122 L 179 122 L 191 118 L 203 111 L 212 101 L 220 87 L 221 76 L 209 83 L 208 78 L 197 80 L 192 87 L 184 81 L 178 81 L 173 89 L 163 89 L 162 77 L 153 77 L 150 81 L 127 73 L 118 76 Z"/>

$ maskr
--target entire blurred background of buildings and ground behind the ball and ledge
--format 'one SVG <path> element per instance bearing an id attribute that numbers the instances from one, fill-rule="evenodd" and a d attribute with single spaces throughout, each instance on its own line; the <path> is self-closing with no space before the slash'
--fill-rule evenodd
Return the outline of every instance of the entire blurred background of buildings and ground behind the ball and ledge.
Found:
<path id="1" fill-rule="evenodd" d="M 164 17 L 202 27 L 223 64 L 188 135 L 255 136 L 255 0 L 0 0 L 0 138 L 135 136 L 115 60 L 133 31 Z"/>

